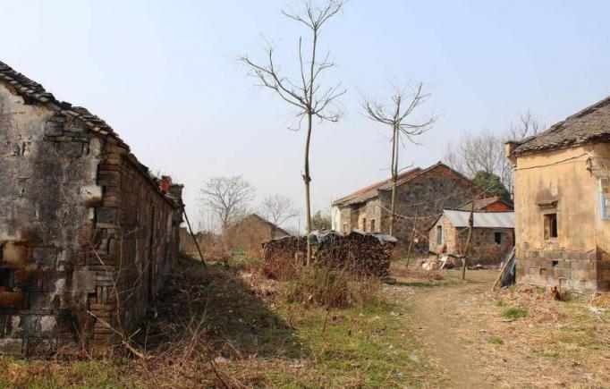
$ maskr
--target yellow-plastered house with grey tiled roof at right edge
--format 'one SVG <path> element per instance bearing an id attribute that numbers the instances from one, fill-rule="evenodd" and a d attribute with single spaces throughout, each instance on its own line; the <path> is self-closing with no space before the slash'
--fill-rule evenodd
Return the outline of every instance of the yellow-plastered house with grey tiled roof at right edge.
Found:
<path id="1" fill-rule="evenodd" d="M 506 144 L 514 166 L 517 283 L 610 286 L 610 97 Z"/>

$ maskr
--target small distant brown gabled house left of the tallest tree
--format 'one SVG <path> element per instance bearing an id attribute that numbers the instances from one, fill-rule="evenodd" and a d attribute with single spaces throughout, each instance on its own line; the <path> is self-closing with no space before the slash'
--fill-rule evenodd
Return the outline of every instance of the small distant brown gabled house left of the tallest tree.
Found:
<path id="1" fill-rule="evenodd" d="M 256 214 L 251 214 L 231 224 L 225 235 L 230 249 L 250 251 L 259 255 L 264 241 L 284 238 L 290 236 L 290 233 Z"/>

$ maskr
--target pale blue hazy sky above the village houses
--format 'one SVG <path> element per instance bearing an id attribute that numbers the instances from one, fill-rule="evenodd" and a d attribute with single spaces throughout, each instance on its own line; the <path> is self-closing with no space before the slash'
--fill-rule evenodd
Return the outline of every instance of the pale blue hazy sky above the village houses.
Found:
<path id="1" fill-rule="evenodd" d="M 309 35 L 280 11 L 298 4 L 0 0 L 0 61 L 86 106 L 141 163 L 182 182 L 192 219 L 213 176 L 243 175 L 257 189 L 252 207 L 281 194 L 302 208 L 304 131 L 288 130 L 292 109 L 236 61 L 262 59 L 269 41 L 295 75 Z M 447 141 L 504 132 L 526 110 L 550 125 L 606 97 L 608 14 L 606 1 L 349 1 L 319 42 L 336 63 L 325 83 L 347 93 L 343 119 L 314 127 L 314 210 L 389 174 L 387 128 L 360 106 L 392 83 L 424 82 L 419 114 L 437 117 L 420 146 L 401 150 L 402 166 L 432 165 Z"/>

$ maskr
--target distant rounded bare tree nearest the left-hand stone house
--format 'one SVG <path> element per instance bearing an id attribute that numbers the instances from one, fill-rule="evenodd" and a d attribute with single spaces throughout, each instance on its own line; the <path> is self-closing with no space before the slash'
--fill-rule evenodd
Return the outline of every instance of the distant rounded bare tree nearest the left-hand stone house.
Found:
<path id="1" fill-rule="evenodd" d="M 216 215 L 225 233 L 229 224 L 244 216 L 254 192 L 252 184 L 241 175 L 212 177 L 201 188 L 201 200 Z"/>

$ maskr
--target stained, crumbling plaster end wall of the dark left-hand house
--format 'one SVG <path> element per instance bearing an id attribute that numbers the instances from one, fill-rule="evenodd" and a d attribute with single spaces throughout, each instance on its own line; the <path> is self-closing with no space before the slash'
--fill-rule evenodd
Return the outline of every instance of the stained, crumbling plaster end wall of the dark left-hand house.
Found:
<path id="1" fill-rule="evenodd" d="M 92 237 L 101 148 L 77 123 L 0 85 L 3 351 L 50 350 L 73 339 L 70 309 L 85 303 L 71 294 L 73 263 Z"/>

